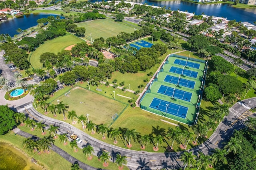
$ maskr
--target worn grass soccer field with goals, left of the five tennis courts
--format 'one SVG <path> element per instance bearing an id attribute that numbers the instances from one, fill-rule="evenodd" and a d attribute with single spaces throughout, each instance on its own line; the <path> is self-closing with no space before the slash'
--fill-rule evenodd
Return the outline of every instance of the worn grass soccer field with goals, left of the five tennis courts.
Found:
<path id="1" fill-rule="evenodd" d="M 82 87 L 74 87 L 60 95 L 57 100 L 66 103 L 69 106 L 68 111 L 76 111 L 77 116 L 89 114 L 89 120 L 97 125 L 102 123 L 110 125 L 113 121 L 112 116 L 115 113 L 119 114 L 126 107 L 123 103 L 88 91 Z M 57 100 L 52 103 L 58 104 Z M 66 113 L 67 115 L 68 113 Z"/>

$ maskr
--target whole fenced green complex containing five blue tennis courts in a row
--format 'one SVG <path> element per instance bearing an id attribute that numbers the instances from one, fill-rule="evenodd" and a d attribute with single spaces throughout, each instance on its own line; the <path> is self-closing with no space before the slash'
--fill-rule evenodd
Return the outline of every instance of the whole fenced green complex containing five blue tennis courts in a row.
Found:
<path id="1" fill-rule="evenodd" d="M 141 109 L 192 125 L 200 108 L 204 62 L 168 57 L 142 96 Z"/>

